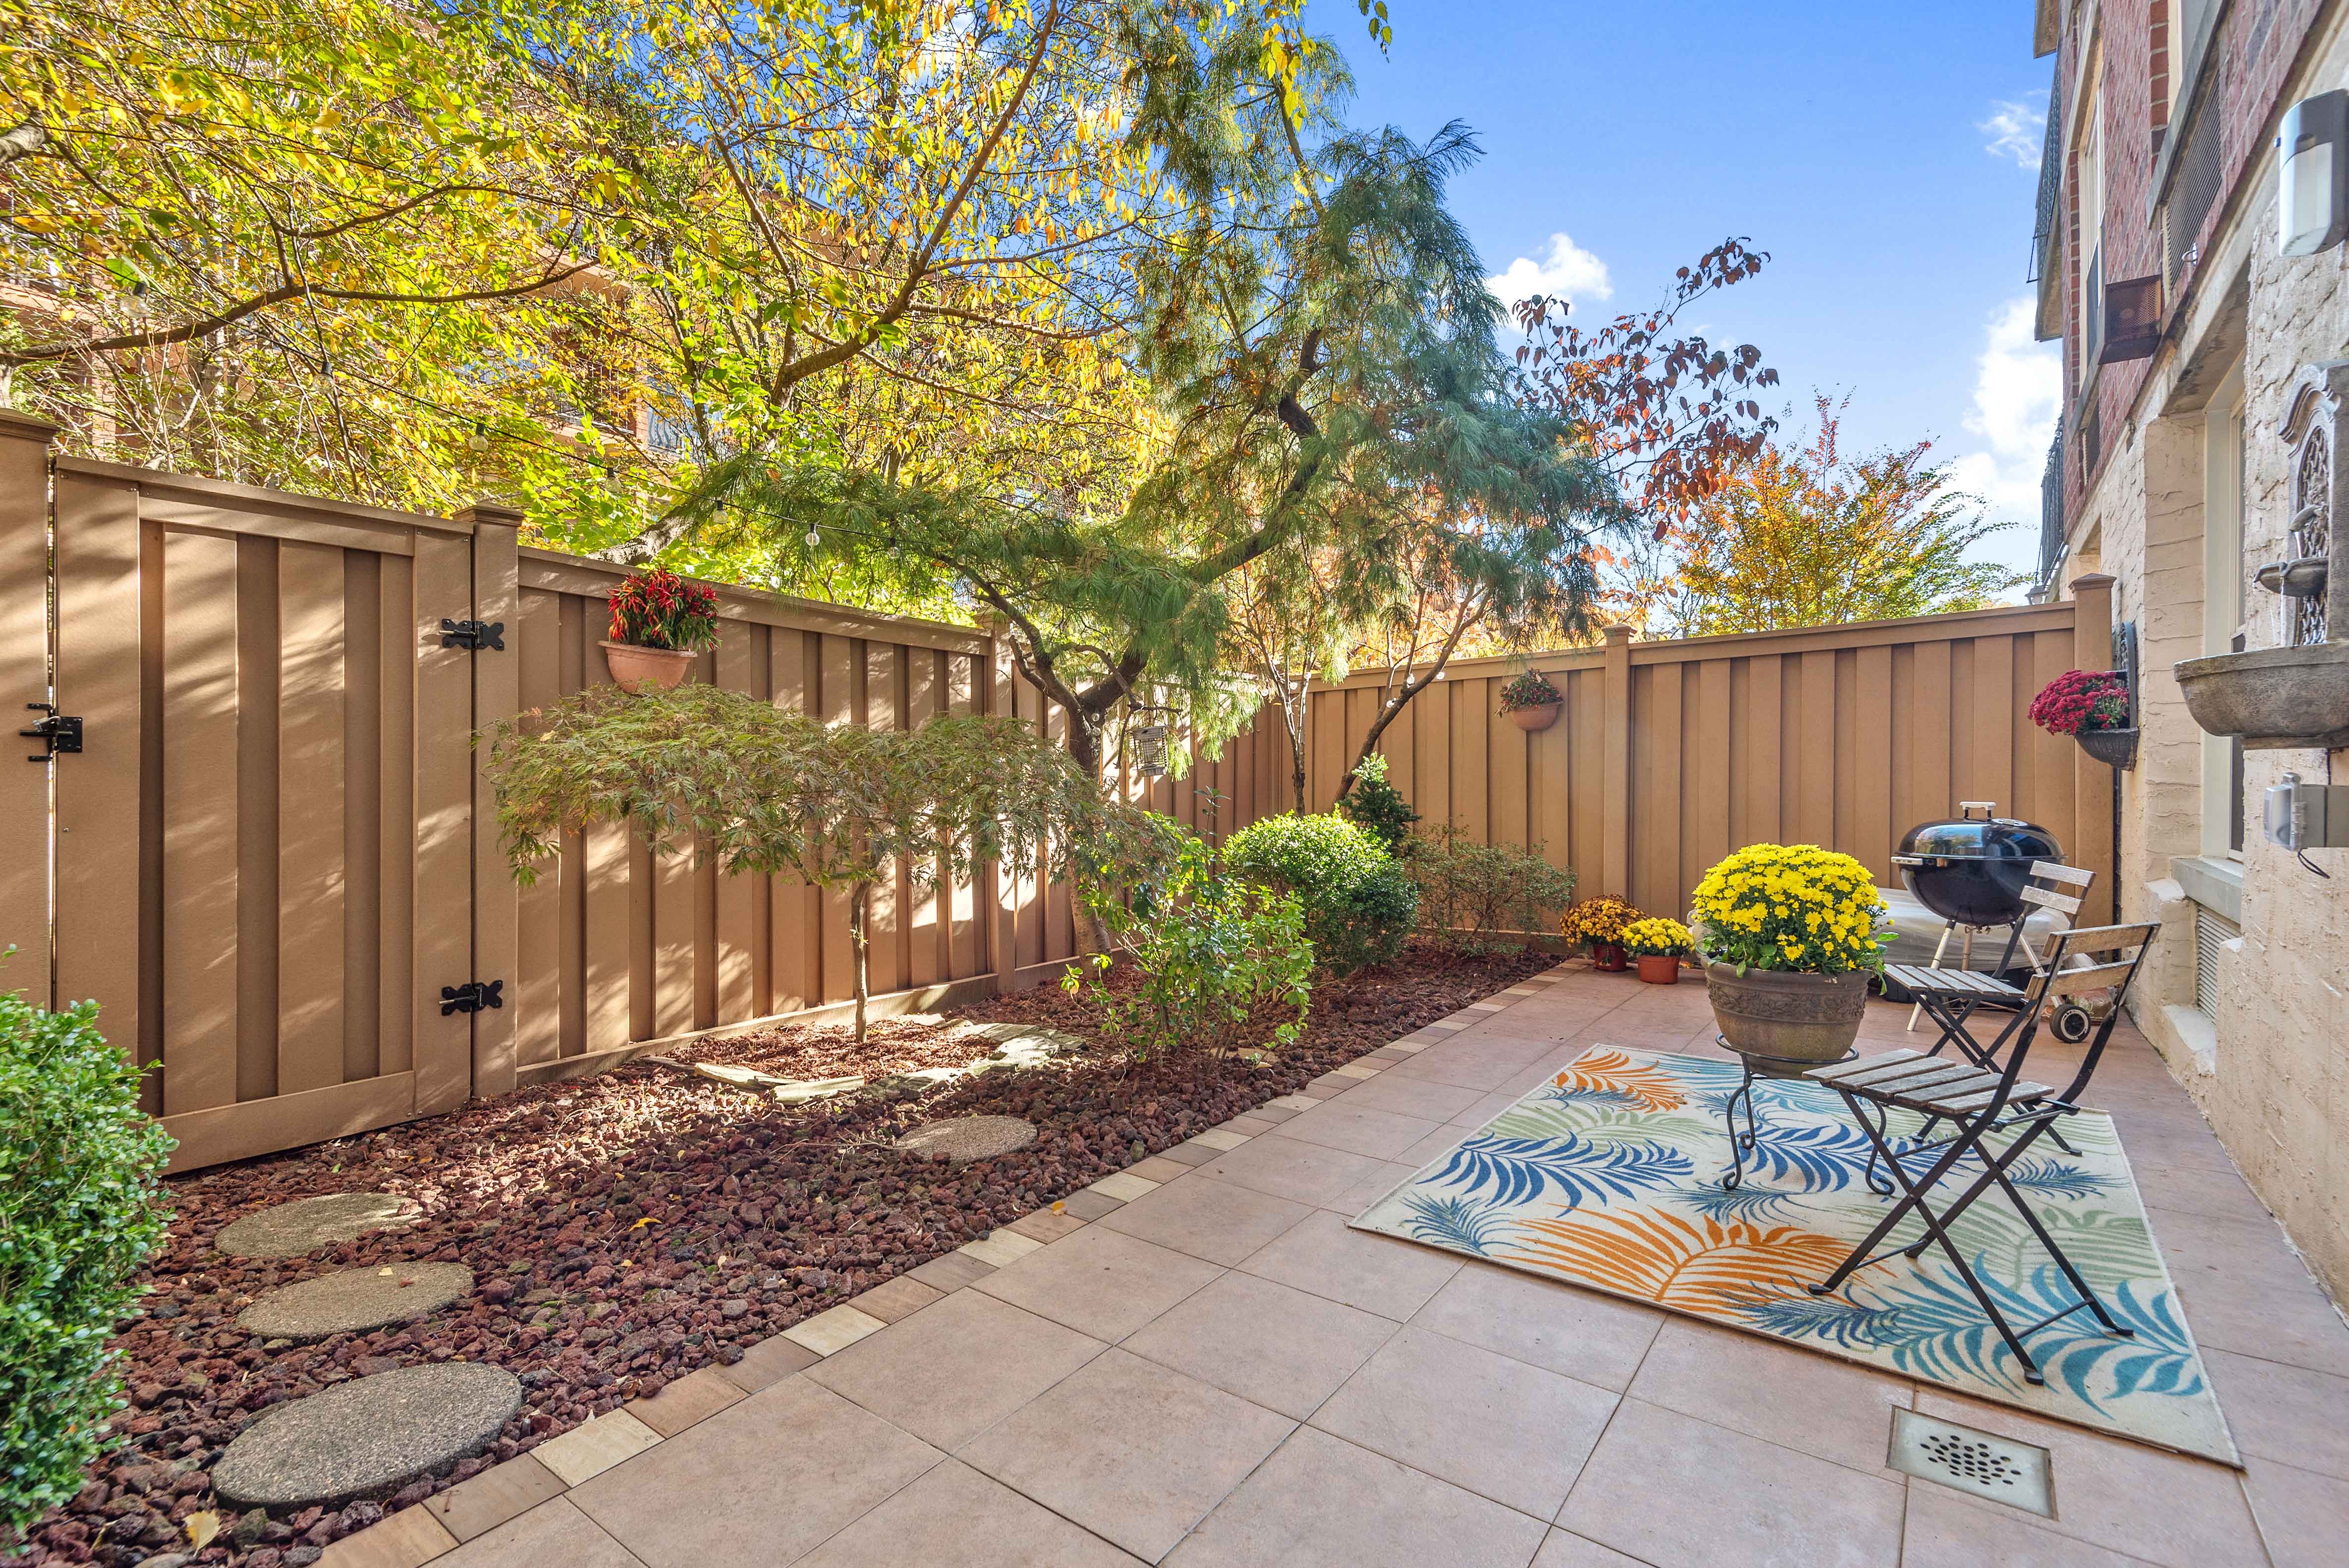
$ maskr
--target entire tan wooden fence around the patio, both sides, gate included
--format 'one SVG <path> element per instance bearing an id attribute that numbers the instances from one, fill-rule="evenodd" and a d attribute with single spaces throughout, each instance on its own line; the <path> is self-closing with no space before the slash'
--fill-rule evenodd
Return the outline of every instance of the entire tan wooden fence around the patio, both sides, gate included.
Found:
<path id="1" fill-rule="evenodd" d="M 0 986 L 94 998 L 134 1052 L 174 1169 L 449 1110 L 646 1042 L 848 998 L 848 915 L 792 878 L 721 878 L 625 831 L 573 836 L 521 890 L 472 735 L 606 678 L 604 563 L 517 547 L 519 516 L 413 516 L 49 458 L 0 413 L 0 699 L 54 699 L 80 751 L 0 768 Z M 1555 728 L 1499 714 L 1468 660 L 1386 732 L 1431 822 L 1541 843 L 1583 890 L 1684 908 L 1738 843 L 1851 850 L 1990 798 L 2112 866 L 2112 775 L 2039 735 L 2030 695 L 2105 664 L 2109 589 L 2077 606 L 1541 655 Z M 832 721 L 1066 716 L 968 627 L 719 589 L 698 678 Z M 444 622 L 496 622 L 465 648 Z M 1327 805 L 1379 676 L 1308 699 Z M 38 714 L 28 714 L 28 721 Z M 1123 742 L 1120 742 L 1123 744 Z M 26 753 L 42 751 L 28 739 Z M 42 758 L 35 758 L 42 761 Z M 1132 761 L 1132 758 L 1123 758 Z M 1210 840 L 1287 810 L 1273 709 L 1128 798 Z M 980 876 L 874 911 L 871 986 L 942 1005 L 1076 953 L 1069 890 Z M 460 1012 L 467 984 L 500 1007 Z"/>

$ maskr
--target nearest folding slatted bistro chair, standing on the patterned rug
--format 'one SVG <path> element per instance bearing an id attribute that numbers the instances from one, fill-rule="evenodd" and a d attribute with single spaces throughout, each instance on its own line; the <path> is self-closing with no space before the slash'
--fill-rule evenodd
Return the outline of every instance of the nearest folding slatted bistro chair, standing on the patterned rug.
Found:
<path id="1" fill-rule="evenodd" d="M 2058 932 L 2048 944 L 2046 967 L 2032 979 L 2025 998 L 2027 1007 L 2018 1014 L 2022 1033 L 2015 1035 L 2013 1047 L 2006 1052 L 2006 1066 L 1997 1073 L 1964 1061 L 1940 1061 L 1919 1052 L 1860 1056 L 1858 1061 L 1804 1073 L 1804 1077 L 1828 1084 L 1844 1096 L 1844 1103 L 1851 1108 L 1851 1115 L 1858 1120 L 1870 1145 L 1875 1148 L 1872 1160 L 1884 1160 L 1893 1181 L 1900 1183 L 1903 1190 L 1900 1202 L 1893 1204 L 1872 1232 L 1867 1232 L 1865 1242 L 1851 1249 L 1851 1256 L 1844 1258 L 1832 1275 L 1828 1275 L 1825 1284 L 1806 1286 L 1813 1296 L 1839 1291 L 1853 1272 L 1872 1263 L 1884 1263 L 1896 1251 L 1919 1258 L 1926 1246 L 1938 1244 L 1957 1268 L 1959 1279 L 1966 1282 L 1966 1289 L 1973 1291 L 1973 1298 L 1983 1305 L 1983 1312 L 1990 1314 L 1999 1338 L 2004 1338 L 2006 1347 L 2015 1352 L 2018 1361 L 2022 1361 L 2022 1376 L 2030 1383 L 2046 1383 L 2046 1376 L 2039 1371 L 2039 1364 L 2032 1361 L 2030 1350 L 2022 1347 L 2025 1333 L 2034 1333 L 2062 1317 L 2088 1310 L 2095 1314 L 2095 1322 L 2102 1324 L 2105 1333 L 2116 1333 L 2121 1338 L 2131 1336 L 2128 1329 L 2112 1322 L 2112 1312 L 2105 1310 L 2105 1303 L 2095 1298 L 2088 1282 L 2079 1277 L 2072 1261 L 2062 1256 L 2060 1246 L 2055 1246 L 2055 1237 L 2046 1232 L 2046 1225 L 2041 1225 L 2039 1216 L 2032 1214 L 2022 1192 L 2015 1190 L 2015 1183 L 2008 1178 L 2008 1169 L 2013 1169 L 2013 1164 L 2030 1153 L 2032 1143 L 2037 1143 L 2041 1134 L 2053 1131 L 2058 1117 L 2079 1113 L 2079 1096 L 2088 1087 L 2088 1077 L 2095 1075 L 2095 1063 L 2102 1059 L 2105 1045 L 2112 1040 L 2112 1028 L 2121 1016 L 2121 1002 L 2128 998 L 2128 986 L 2138 979 L 2138 965 L 2145 962 L 2147 946 L 2159 930 L 2159 922 L 2142 922 Z M 2065 960 L 2074 955 L 2102 958 L 2102 962 L 2067 969 Z M 2079 1073 L 2062 1089 L 2062 1094 L 2048 1084 L 2025 1080 L 2022 1061 L 2030 1056 L 2032 1035 L 2039 1033 L 2041 1005 L 2053 998 L 2102 991 L 2105 986 L 2114 988 L 2112 1012 L 2095 1028 L 2088 1054 L 2081 1059 Z M 1954 1131 L 1947 1138 L 1914 1143 L 1896 1153 L 1886 1138 L 1886 1122 L 1893 1110 L 1914 1110 L 1924 1115 L 1926 1129 L 1936 1122 L 1950 1122 Z M 1994 1131 L 2015 1131 L 2015 1138 L 1999 1150 L 1983 1141 Z M 1933 1162 L 1924 1169 L 1924 1174 L 1912 1176 L 1903 1160 L 1914 1162 L 1926 1155 L 1931 1155 Z M 1976 1176 L 1947 1207 L 1933 1209 L 1933 1192 L 1966 1157 L 1980 1160 L 1983 1174 Z M 1872 1164 L 1870 1174 L 1875 1174 Z M 2048 1258 L 2053 1258 L 2055 1268 L 2062 1270 L 2062 1277 L 2072 1282 L 2074 1291 L 2079 1291 L 2079 1300 L 2062 1312 L 2051 1312 L 2037 1324 L 2022 1324 L 2020 1329 L 2006 1322 L 2006 1314 L 1999 1312 L 1990 1291 L 1983 1289 L 1983 1282 L 1966 1263 L 1966 1253 L 1961 1253 L 1957 1242 L 1950 1239 L 1950 1225 L 1954 1225 L 1957 1218 L 1992 1188 L 2006 1195 L 2006 1199 L 2015 1207 L 2015 1214 L 2022 1216 L 2022 1223 L 2030 1225 L 2032 1235 L 2039 1237 L 2039 1244 L 2046 1246 Z M 1924 1221 L 1924 1235 L 1914 1242 L 1898 1242 L 1877 1251 L 1884 1237 L 1893 1232 L 1893 1225 L 1905 1221 L 1912 1211 Z"/>

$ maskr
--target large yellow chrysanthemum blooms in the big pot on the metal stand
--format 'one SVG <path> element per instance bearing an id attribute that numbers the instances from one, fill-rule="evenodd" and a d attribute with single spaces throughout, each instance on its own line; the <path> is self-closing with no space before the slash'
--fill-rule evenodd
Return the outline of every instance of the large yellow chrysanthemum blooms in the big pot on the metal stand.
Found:
<path id="1" fill-rule="evenodd" d="M 1745 845 L 1696 885 L 1696 944 L 1738 974 L 1882 969 L 1882 915 L 1867 866 L 1818 845 Z"/>

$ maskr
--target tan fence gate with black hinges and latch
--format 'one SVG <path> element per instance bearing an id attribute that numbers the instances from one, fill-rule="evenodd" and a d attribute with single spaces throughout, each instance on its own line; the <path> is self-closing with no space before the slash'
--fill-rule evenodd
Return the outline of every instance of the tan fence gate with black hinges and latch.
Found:
<path id="1" fill-rule="evenodd" d="M 40 434 L 0 427 L 12 707 L 35 674 L 16 655 L 40 469 L 19 458 Z M 94 998 L 108 1040 L 157 1063 L 174 1169 L 463 1103 L 493 1047 L 477 1033 L 510 1033 L 442 1000 L 474 979 L 474 662 L 500 655 L 442 622 L 479 617 L 477 542 L 510 559 L 507 519 L 56 460 L 49 521 L 54 838 L 28 843 L 28 739 L 0 796 L 19 946 L 0 984 Z M 52 869 L 47 976 L 26 847 Z"/>

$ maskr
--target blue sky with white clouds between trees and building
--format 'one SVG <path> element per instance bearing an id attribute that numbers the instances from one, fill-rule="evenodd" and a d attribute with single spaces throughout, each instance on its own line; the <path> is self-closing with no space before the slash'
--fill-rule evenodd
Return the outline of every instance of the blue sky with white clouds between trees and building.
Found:
<path id="1" fill-rule="evenodd" d="M 1818 387 L 1853 394 L 1846 451 L 1933 437 L 1992 516 L 2025 523 L 1983 554 L 2037 559 L 2058 371 L 2055 345 L 2030 338 L 2022 282 L 2051 68 L 2032 59 L 2027 0 L 1388 12 L 1388 59 L 1355 0 L 1308 14 L 1353 66 L 1353 122 L 1475 127 L 1485 160 L 1454 209 L 1489 272 L 1515 265 L 1607 319 L 1748 235 L 1771 263 L 1691 322 L 1755 343 L 1802 430 Z"/>

